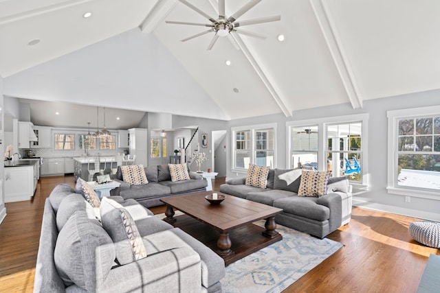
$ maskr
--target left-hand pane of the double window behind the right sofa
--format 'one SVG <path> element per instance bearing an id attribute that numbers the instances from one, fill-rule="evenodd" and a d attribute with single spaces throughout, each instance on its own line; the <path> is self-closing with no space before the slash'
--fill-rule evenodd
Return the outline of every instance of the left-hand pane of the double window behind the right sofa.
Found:
<path id="1" fill-rule="evenodd" d="M 290 167 L 306 166 L 318 169 L 318 126 L 295 126 L 290 129 L 292 137 Z"/>

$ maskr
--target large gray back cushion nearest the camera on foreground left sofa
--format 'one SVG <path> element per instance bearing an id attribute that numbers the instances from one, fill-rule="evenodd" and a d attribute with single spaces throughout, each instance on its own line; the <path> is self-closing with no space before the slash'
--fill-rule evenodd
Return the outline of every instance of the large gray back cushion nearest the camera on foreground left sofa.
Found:
<path id="1" fill-rule="evenodd" d="M 54 262 L 66 286 L 76 284 L 87 292 L 96 292 L 107 278 L 115 259 L 110 236 L 97 220 L 76 211 L 56 239 Z"/>

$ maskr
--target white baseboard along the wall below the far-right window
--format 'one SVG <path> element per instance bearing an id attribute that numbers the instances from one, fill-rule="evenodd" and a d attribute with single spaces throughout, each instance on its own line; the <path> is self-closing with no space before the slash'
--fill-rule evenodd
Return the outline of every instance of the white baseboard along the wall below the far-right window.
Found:
<path id="1" fill-rule="evenodd" d="M 358 200 L 353 198 L 353 206 L 362 207 L 363 209 L 373 209 L 375 211 L 384 211 L 386 213 L 397 213 L 397 215 L 406 215 L 412 218 L 418 218 L 423 220 L 430 220 L 440 222 L 439 213 L 429 213 L 426 211 L 419 211 L 415 209 L 406 209 L 403 207 L 393 207 L 387 204 L 378 204 L 375 202 L 366 202 L 364 200 Z"/>

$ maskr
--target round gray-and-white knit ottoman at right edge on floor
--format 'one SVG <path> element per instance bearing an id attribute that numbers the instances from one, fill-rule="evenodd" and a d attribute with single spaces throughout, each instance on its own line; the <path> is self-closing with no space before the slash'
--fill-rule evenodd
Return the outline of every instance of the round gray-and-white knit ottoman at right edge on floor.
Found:
<path id="1" fill-rule="evenodd" d="M 412 222 L 410 234 L 415 241 L 426 246 L 440 248 L 440 223 L 429 221 Z"/>

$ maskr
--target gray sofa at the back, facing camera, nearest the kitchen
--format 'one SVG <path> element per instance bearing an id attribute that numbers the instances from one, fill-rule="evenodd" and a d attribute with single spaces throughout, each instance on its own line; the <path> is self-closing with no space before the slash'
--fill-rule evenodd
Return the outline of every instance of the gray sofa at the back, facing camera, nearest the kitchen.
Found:
<path id="1" fill-rule="evenodd" d="M 122 180 L 122 172 L 118 172 L 112 179 L 119 182 L 120 187 L 110 191 L 112 196 L 122 196 L 124 199 L 133 198 L 144 207 L 155 207 L 164 204 L 161 198 L 179 196 L 192 192 L 206 191 L 208 181 L 195 172 L 189 172 L 191 180 L 171 181 L 170 168 L 168 165 L 145 167 L 148 180 L 146 185 L 129 185 Z"/>

